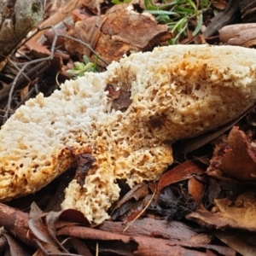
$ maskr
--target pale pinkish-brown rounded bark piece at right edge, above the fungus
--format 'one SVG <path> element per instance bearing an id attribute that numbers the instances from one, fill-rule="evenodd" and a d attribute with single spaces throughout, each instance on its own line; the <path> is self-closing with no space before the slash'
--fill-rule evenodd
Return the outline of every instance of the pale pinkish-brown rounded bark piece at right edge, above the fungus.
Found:
<path id="1" fill-rule="evenodd" d="M 256 45 L 256 24 L 234 24 L 222 27 L 219 40 L 224 44 L 253 47 Z"/>

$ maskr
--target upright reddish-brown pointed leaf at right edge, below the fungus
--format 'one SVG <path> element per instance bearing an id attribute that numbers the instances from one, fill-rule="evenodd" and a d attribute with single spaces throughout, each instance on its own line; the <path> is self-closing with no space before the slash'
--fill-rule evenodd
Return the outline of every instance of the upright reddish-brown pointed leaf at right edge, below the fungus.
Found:
<path id="1" fill-rule="evenodd" d="M 248 142 L 245 133 L 238 126 L 234 126 L 227 142 L 229 148 L 222 159 L 221 171 L 237 179 L 255 180 L 256 148 Z"/>

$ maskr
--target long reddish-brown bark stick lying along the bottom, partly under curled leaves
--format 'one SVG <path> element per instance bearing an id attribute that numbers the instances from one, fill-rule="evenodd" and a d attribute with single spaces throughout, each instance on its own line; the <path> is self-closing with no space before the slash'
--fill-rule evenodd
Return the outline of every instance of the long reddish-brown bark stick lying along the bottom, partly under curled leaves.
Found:
<path id="1" fill-rule="evenodd" d="M 20 212 L 19 210 L 0 204 L 0 225 L 3 225 L 5 230 L 8 230 L 21 241 L 36 247 L 36 236 L 33 235 L 32 230 L 29 229 L 28 219 L 28 213 Z M 109 251 L 116 253 L 116 250 L 120 250 L 123 253 L 121 255 L 167 256 L 172 254 L 173 256 L 203 256 L 205 253 L 201 253 L 201 250 L 210 249 L 214 252 L 218 252 L 220 255 L 236 255 L 236 252 L 229 247 L 195 244 L 186 241 L 170 241 L 168 239 L 147 236 L 126 236 L 79 226 L 72 222 L 70 222 L 70 224 L 67 222 L 63 224 L 64 223 L 61 222 L 59 223 L 59 221 L 56 222 L 56 236 L 72 236 L 90 240 L 90 246 L 96 244 L 96 241 L 100 242 L 100 250 L 102 253 L 109 253 Z M 83 221 L 81 224 L 83 224 Z M 199 249 L 199 251 L 196 249 Z"/>

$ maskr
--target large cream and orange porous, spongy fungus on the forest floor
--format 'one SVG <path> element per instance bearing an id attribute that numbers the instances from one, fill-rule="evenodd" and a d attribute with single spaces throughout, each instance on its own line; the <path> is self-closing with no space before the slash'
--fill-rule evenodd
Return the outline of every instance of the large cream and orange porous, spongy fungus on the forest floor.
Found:
<path id="1" fill-rule="evenodd" d="M 61 207 L 101 223 L 119 198 L 118 179 L 131 187 L 158 179 L 172 164 L 172 142 L 250 108 L 255 73 L 255 49 L 176 45 L 125 56 L 105 73 L 85 73 L 49 97 L 39 94 L 0 131 L 0 201 L 43 188 L 73 166 L 74 152 L 91 154 L 84 182 L 73 179 Z M 131 92 L 125 111 L 113 108 L 107 84 Z"/>

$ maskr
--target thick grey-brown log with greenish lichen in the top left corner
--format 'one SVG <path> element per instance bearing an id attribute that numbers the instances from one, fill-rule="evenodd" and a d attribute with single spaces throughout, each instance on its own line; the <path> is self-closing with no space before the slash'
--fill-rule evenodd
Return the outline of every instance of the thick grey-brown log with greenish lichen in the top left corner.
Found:
<path id="1" fill-rule="evenodd" d="M 0 70 L 5 58 L 44 16 L 44 1 L 16 0 L 0 3 Z"/>

